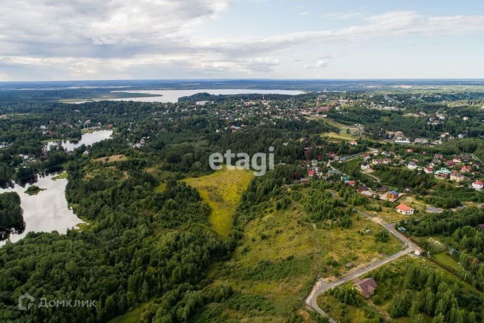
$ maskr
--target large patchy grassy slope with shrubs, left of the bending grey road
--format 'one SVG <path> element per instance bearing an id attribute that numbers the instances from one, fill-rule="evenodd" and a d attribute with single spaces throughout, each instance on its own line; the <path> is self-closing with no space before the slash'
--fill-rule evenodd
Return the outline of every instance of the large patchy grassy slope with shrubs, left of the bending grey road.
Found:
<path id="1" fill-rule="evenodd" d="M 282 322 L 297 315 L 298 321 L 314 322 L 304 301 L 318 277 L 343 274 L 350 269 L 346 262 L 358 266 L 401 250 L 393 237 L 387 243 L 376 242 L 380 227 L 366 218 L 353 216 L 349 229 L 319 228 L 307 222 L 297 202 L 280 210 L 273 205 L 259 205 L 232 258 L 210 274 L 212 286 L 229 284 L 240 304 L 210 304 L 194 321 Z M 372 232 L 361 234 L 366 228 Z M 334 261 L 328 263 L 329 259 Z"/>

